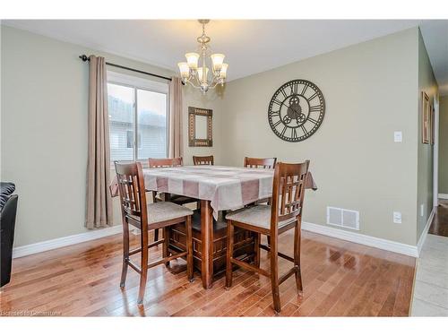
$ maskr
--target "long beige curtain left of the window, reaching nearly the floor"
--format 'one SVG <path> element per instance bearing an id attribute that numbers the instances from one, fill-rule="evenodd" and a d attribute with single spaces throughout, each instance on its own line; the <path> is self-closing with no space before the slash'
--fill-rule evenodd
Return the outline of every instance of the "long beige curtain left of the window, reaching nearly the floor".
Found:
<path id="1" fill-rule="evenodd" d="M 103 57 L 90 56 L 89 150 L 87 162 L 87 228 L 112 226 L 108 130 L 108 81 Z"/>

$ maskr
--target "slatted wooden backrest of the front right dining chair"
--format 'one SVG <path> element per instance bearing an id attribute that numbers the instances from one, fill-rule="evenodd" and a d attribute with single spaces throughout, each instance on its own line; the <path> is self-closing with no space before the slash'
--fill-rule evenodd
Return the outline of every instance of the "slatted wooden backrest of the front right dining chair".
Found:
<path id="1" fill-rule="evenodd" d="M 301 214 L 305 197 L 309 160 L 289 164 L 279 162 L 275 166 L 271 200 L 271 230 L 278 228 L 282 220 Z"/>

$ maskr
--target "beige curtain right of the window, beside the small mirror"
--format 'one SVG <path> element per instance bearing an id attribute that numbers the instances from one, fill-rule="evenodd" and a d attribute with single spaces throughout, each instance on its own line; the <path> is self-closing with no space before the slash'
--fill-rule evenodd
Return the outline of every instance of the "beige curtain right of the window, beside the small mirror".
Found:
<path id="1" fill-rule="evenodd" d="M 182 81 L 172 77 L 169 83 L 169 157 L 183 155 L 182 142 Z"/>

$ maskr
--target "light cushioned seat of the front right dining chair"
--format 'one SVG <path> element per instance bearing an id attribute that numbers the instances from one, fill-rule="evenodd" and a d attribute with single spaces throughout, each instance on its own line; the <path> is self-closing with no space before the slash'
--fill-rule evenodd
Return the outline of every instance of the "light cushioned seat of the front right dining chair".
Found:
<path id="1" fill-rule="evenodd" d="M 228 213 L 226 220 L 239 221 L 257 228 L 271 228 L 271 205 L 260 204 Z M 282 220 L 279 228 L 295 221 L 295 218 Z"/>

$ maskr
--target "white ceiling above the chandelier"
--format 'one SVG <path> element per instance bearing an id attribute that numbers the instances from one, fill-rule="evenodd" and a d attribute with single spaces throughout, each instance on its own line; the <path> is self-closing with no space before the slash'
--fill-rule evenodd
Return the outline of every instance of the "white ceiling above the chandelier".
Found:
<path id="1" fill-rule="evenodd" d="M 13 20 L 30 30 L 119 56 L 177 70 L 194 51 L 194 20 Z M 206 26 L 214 52 L 226 55 L 228 80 L 420 25 L 441 88 L 448 93 L 448 21 L 216 20 Z"/>

